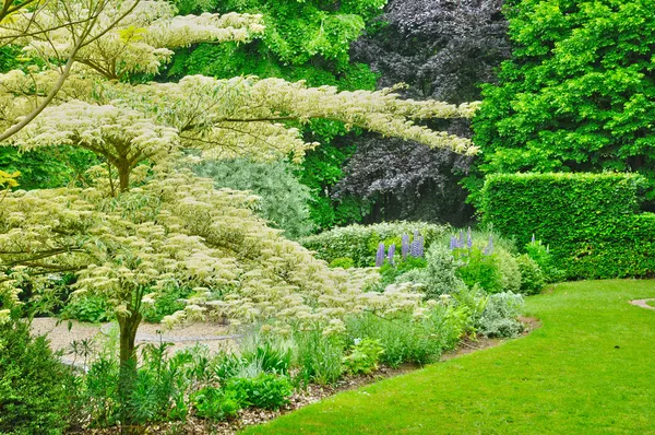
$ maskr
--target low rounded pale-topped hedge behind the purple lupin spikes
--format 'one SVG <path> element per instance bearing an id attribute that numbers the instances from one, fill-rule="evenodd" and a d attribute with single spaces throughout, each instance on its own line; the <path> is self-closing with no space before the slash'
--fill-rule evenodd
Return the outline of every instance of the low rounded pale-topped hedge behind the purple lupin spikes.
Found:
<path id="1" fill-rule="evenodd" d="M 401 252 L 401 237 L 407 234 L 412 239 L 414 232 L 424 237 L 426 248 L 433 240 L 443 237 L 449 226 L 426 222 L 383 222 L 374 225 L 342 226 L 321 234 L 301 238 L 299 242 L 307 249 L 317 252 L 317 257 L 332 262 L 337 258 L 352 258 L 357 267 L 376 264 L 376 252 L 380 242 L 386 247 L 396 244 L 396 252 Z"/>

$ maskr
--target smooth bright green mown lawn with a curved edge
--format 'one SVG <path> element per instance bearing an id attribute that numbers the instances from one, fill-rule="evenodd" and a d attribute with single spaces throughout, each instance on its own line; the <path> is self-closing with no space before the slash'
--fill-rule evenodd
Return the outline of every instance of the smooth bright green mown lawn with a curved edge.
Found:
<path id="1" fill-rule="evenodd" d="M 558 284 L 543 327 L 303 408 L 247 434 L 655 434 L 655 281 Z"/>

